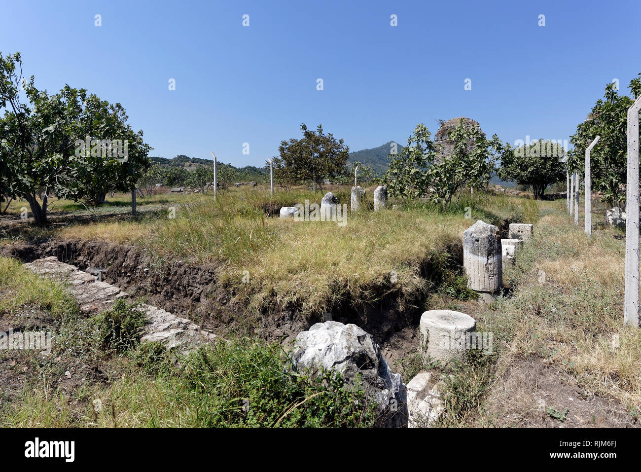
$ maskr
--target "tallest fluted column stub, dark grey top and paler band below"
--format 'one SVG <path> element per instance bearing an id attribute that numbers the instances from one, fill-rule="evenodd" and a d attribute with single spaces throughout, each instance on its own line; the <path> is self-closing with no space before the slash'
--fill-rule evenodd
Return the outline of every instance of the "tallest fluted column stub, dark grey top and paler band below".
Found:
<path id="1" fill-rule="evenodd" d="M 474 291 L 494 294 L 503 287 L 503 251 L 498 232 L 499 228 L 481 220 L 463 232 L 463 268 L 467 286 Z"/>

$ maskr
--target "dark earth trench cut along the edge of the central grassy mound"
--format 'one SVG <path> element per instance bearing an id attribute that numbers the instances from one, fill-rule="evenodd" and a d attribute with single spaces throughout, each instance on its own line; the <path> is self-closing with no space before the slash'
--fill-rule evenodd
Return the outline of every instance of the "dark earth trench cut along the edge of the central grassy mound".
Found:
<path id="1" fill-rule="evenodd" d="M 451 244 L 449 264 L 460 267 L 462 246 Z M 146 303 L 163 308 L 172 314 L 192 319 L 206 330 L 215 333 L 240 332 L 258 335 L 271 341 L 282 341 L 308 329 L 314 323 L 333 319 L 354 323 L 371 333 L 377 342 L 386 344 L 395 333 L 409 330 L 413 339 L 422 313 L 419 295 L 404 295 L 390 287 L 372 287 L 379 292 L 374 303 L 356 307 L 345 302 L 332 307 L 331 312 L 303 316 L 296 307 L 283 307 L 275 302 L 258 314 L 234 299 L 234 287 L 219 280 L 219 268 L 212 264 L 194 265 L 182 260 L 158 262 L 157 255 L 136 246 L 99 240 L 60 239 L 35 244 L 13 244 L 3 248 L 3 254 L 22 262 L 33 262 L 54 256 L 83 271 L 102 269 L 104 282 L 120 287 Z M 428 261 L 420 275 L 438 287 L 442 264 Z M 410 307 L 399 310 L 399 305 Z"/>

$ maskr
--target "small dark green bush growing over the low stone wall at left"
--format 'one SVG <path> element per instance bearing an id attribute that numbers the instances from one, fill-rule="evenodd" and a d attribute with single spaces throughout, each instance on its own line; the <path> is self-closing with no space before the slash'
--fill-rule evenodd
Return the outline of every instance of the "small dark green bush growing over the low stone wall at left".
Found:
<path id="1" fill-rule="evenodd" d="M 101 315 L 98 331 L 104 350 L 124 352 L 140 342 L 146 319 L 144 313 L 137 308 L 137 303 L 129 304 L 119 299 L 111 310 Z"/>

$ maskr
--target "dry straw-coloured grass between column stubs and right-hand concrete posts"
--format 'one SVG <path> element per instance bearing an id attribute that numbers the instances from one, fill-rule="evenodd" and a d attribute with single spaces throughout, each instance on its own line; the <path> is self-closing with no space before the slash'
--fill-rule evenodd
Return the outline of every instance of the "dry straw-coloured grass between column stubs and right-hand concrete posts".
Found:
<path id="1" fill-rule="evenodd" d="M 624 242 L 612 237 L 615 230 L 587 237 L 563 210 L 540 219 L 506 272 L 517 289 L 500 308 L 511 339 L 501 369 L 534 353 L 638 412 L 641 334 L 623 326 Z"/>

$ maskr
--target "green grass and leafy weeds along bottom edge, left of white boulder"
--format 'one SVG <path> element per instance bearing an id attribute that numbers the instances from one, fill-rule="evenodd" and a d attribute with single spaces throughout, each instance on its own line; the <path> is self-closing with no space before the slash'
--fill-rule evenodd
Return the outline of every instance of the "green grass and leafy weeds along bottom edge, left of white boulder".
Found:
<path id="1" fill-rule="evenodd" d="M 150 357 L 151 356 L 151 357 Z M 140 360 L 149 367 L 140 368 Z M 132 352 L 108 385 L 72 392 L 24 389 L 0 408 L 3 426 L 367 427 L 374 404 L 362 384 L 287 369 L 278 345 L 235 339 L 188 357 L 158 346 Z M 160 366 L 160 367 L 159 367 Z"/>

